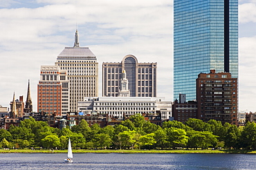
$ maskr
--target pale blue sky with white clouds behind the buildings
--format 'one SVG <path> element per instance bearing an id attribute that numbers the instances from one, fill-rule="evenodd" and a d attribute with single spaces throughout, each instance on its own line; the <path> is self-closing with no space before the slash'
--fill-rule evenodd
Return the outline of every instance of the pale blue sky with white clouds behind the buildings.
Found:
<path id="1" fill-rule="evenodd" d="M 40 66 L 64 47 L 88 46 L 99 63 L 157 62 L 157 95 L 173 100 L 173 0 L 0 0 L 0 105 L 26 100 L 30 79 L 37 111 Z M 256 0 L 239 0 L 239 111 L 256 112 Z M 210 70 L 209 70 L 210 71 Z"/>

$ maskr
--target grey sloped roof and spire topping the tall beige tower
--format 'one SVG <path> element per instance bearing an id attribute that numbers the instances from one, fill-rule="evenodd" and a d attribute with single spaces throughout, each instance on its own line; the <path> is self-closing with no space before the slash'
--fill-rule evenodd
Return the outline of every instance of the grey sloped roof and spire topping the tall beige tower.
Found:
<path id="1" fill-rule="evenodd" d="M 73 47 L 65 47 L 57 56 L 57 59 L 96 59 L 89 47 L 80 47 L 78 42 L 78 31 L 75 31 L 75 42 Z"/>

